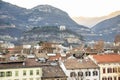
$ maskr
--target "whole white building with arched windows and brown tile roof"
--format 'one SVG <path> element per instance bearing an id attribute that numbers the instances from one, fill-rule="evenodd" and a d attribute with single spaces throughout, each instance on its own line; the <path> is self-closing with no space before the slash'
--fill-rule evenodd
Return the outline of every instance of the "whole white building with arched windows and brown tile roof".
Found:
<path id="1" fill-rule="evenodd" d="M 67 59 L 60 62 L 67 80 L 99 80 L 99 67 L 90 59 Z"/>

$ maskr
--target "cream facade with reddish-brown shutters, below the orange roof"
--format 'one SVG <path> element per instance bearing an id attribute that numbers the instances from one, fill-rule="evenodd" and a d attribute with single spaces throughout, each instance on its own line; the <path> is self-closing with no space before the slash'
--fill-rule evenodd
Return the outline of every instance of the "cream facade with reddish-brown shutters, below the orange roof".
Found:
<path id="1" fill-rule="evenodd" d="M 120 63 L 98 64 L 100 80 L 120 80 Z"/>

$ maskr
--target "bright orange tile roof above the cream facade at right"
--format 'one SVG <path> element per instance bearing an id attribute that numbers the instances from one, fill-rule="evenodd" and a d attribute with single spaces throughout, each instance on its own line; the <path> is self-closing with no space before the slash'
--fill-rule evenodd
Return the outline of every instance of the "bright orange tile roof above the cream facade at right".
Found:
<path id="1" fill-rule="evenodd" d="M 120 62 L 120 55 L 119 54 L 93 55 L 93 58 L 97 61 L 97 63 L 114 63 L 114 62 Z"/>

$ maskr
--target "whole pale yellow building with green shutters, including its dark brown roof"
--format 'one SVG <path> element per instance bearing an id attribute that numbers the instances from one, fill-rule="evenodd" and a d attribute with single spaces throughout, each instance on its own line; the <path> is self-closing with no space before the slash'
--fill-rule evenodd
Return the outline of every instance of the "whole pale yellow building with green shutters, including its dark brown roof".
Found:
<path id="1" fill-rule="evenodd" d="M 41 80 L 42 68 L 37 62 L 20 55 L 1 55 L 0 80 Z"/>

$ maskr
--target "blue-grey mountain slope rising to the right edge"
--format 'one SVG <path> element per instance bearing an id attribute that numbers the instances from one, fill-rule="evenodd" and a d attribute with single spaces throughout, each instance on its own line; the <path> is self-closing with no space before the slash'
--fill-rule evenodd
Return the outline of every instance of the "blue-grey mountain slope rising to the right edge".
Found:
<path id="1" fill-rule="evenodd" d="M 105 41 L 114 41 L 117 34 L 120 34 L 120 15 L 104 20 L 91 28 L 98 38 Z"/>

